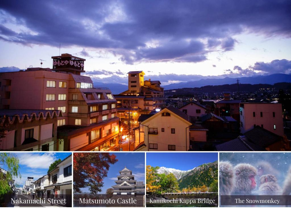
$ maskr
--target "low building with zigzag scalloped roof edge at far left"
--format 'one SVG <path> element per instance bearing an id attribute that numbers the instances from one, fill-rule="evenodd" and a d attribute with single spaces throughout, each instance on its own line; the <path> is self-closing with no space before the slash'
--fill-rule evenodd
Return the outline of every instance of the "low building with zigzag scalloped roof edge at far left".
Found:
<path id="1" fill-rule="evenodd" d="M 0 110 L 0 149 L 58 151 L 57 119 L 61 110 Z"/>

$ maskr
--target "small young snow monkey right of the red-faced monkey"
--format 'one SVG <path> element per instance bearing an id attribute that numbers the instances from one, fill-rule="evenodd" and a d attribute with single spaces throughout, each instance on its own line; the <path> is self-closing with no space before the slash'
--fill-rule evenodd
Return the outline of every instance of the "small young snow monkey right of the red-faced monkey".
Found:
<path id="1" fill-rule="evenodd" d="M 281 188 L 277 183 L 277 178 L 272 174 L 262 175 L 260 178 L 259 191 L 264 193 L 278 192 Z"/>

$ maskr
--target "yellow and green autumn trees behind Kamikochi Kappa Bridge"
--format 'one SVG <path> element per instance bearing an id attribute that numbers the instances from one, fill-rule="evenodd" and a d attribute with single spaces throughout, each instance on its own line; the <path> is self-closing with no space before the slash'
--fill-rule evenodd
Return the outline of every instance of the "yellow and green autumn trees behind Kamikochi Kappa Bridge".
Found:
<path id="1" fill-rule="evenodd" d="M 150 195 L 160 195 L 165 192 L 217 192 L 218 191 L 218 180 L 214 180 L 209 187 L 206 185 L 202 186 L 189 186 L 187 188 L 179 189 L 179 183 L 176 177 L 170 173 L 158 174 L 157 170 L 159 167 L 146 166 L 146 187 L 147 192 Z"/>

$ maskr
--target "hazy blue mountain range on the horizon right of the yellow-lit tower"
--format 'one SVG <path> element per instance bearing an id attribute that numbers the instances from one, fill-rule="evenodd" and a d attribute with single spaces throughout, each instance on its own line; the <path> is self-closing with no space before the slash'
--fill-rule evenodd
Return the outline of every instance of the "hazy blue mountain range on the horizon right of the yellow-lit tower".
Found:
<path id="1" fill-rule="evenodd" d="M 168 89 L 180 89 L 180 88 L 194 88 L 194 87 L 202 87 L 206 85 L 225 85 L 225 84 L 234 84 L 239 79 L 240 83 L 246 84 L 274 84 L 280 82 L 291 82 L 290 74 L 271 74 L 271 75 L 263 75 L 263 76 L 251 76 L 251 77 L 237 77 L 237 78 L 223 78 L 223 79 L 200 79 L 198 81 L 189 81 L 182 83 L 173 83 L 170 85 L 162 85 L 165 90 Z"/>

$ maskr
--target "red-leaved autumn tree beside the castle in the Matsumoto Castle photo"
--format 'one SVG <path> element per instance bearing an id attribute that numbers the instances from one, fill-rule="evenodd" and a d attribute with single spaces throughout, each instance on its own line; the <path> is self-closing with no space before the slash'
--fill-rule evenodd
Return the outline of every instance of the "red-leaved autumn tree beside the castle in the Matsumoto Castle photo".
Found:
<path id="1" fill-rule="evenodd" d="M 97 194 L 103 187 L 110 164 L 118 160 L 109 153 L 74 153 L 74 193 L 81 193 L 81 188 L 89 187 L 91 194 Z"/>

